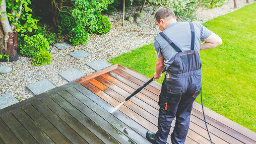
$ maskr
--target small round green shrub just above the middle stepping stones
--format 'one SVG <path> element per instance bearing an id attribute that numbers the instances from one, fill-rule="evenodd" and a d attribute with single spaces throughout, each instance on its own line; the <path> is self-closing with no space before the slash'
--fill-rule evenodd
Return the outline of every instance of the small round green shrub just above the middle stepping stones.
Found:
<path id="1" fill-rule="evenodd" d="M 69 41 L 72 45 L 86 44 L 89 38 L 88 31 L 73 29 L 69 34 Z"/>

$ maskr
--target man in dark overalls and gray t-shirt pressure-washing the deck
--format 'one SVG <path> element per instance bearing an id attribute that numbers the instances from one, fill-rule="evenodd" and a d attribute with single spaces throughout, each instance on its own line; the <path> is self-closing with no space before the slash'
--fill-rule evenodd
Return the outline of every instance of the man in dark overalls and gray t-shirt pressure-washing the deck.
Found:
<path id="1" fill-rule="evenodd" d="M 184 143 L 189 128 L 193 102 L 201 90 L 200 50 L 222 44 L 221 38 L 192 22 L 177 22 L 173 11 L 160 8 L 155 14 L 155 22 L 162 31 L 155 37 L 157 56 L 154 80 L 166 75 L 159 96 L 158 131 L 148 131 L 146 137 L 153 143 L 166 143 L 171 122 L 176 122 L 171 133 L 172 143 Z M 200 44 L 200 41 L 204 43 Z"/>

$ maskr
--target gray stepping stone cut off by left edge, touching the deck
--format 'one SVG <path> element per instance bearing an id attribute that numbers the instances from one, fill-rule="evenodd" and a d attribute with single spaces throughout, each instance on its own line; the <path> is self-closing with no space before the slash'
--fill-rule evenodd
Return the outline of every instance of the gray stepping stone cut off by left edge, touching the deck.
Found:
<path id="1" fill-rule="evenodd" d="M 10 93 L 0 96 L 0 109 L 16 104 L 19 101 Z"/>

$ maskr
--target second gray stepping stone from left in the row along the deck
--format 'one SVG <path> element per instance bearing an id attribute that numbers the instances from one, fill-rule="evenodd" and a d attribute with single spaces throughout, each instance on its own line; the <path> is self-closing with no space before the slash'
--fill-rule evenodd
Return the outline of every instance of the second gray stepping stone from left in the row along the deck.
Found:
<path id="1" fill-rule="evenodd" d="M 26 86 L 35 95 L 39 95 L 53 88 L 56 88 L 50 81 L 43 79 Z"/>

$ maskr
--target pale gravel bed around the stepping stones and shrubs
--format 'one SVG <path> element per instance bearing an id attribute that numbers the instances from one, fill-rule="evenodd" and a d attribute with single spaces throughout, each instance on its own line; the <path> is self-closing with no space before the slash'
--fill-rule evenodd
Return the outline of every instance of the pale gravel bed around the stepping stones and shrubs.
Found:
<path id="1" fill-rule="evenodd" d="M 250 0 L 249 3 L 253 3 Z M 205 10 L 200 12 L 199 18 L 204 20 L 213 19 L 219 15 L 224 15 L 234 10 L 233 1 L 229 1 L 221 8 L 213 10 Z M 238 8 L 246 5 L 245 0 L 237 1 Z M 28 99 L 33 95 L 27 91 L 26 86 L 42 79 L 47 79 L 56 87 L 65 85 L 68 81 L 62 79 L 58 73 L 70 68 L 77 68 L 85 75 L 95 72 L 86 63 L 96 59 L 108 61 L 109 58 L 116 57 L 122 53 L 129 52 L 132 49 L 143 45 L 153 43 L 154 37 L 160 32 L 155 26 L 151 8 L 145 8 L 145 17 L 142 22 L 146 26 L 137 26 L 136 22 L 125 21 L 125 26 L 121 26 L 122 12 L 114 12 L 108 17 L 112 18 L 112 28 L 105 35 L 89 35 L 88 43 L 80 46 L 73 46 L 64 50 L 60 50 L 54 46 L 50 46 L 52 63 L 43 66 L 32 66 L 32 58 L 20 56 L 16 62 L 1 62 L 0 65 L 7 65 L 13 68 L 11 73 L 0 75 L 0 96 L 11 93 L 14 97 Z M 136 8 L 126 10 L 125 17 L 134 16 L 137 13 Z M 85 50 L 92 55 L 80 60 L 69 55 L 70 52 L 76 50 Z"/>

